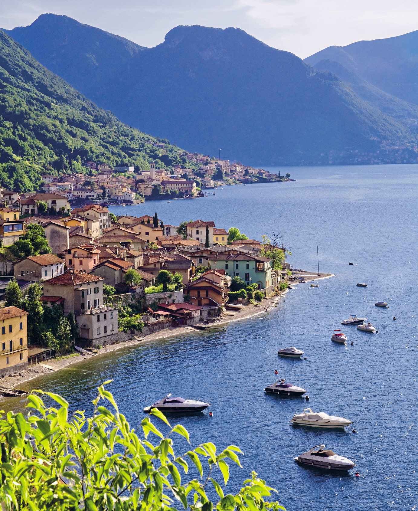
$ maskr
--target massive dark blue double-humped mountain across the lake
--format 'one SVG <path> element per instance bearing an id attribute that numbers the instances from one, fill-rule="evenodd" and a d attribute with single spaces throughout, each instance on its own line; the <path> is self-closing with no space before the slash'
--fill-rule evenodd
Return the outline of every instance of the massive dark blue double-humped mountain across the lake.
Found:
<path id="1" fill-rule="evenodd" d="M 240 29 L 179 26 L 150 49 L 53 14 L 8 33 L 123 122 L 189 151 L 292 165 L 416 144 L 332 73 Z"/>

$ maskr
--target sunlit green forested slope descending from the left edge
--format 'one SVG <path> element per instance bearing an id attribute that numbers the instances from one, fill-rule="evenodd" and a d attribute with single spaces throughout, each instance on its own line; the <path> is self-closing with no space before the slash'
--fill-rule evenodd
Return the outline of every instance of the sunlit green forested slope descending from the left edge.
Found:
<path id="1" fill-rule="evenodd" d="M 0 183 L 35 190 L 40 175 L 85 171 L 84 160 L 149 168 L 149 162 L 180 162 L 177 147 L 166 154 L 158 138 L 121 123 L 37 62 L 0 30 Z M 164 141 L 168 143 L 168 141 Z M 169 143 L 168 143 L 169 144 Z"/>

